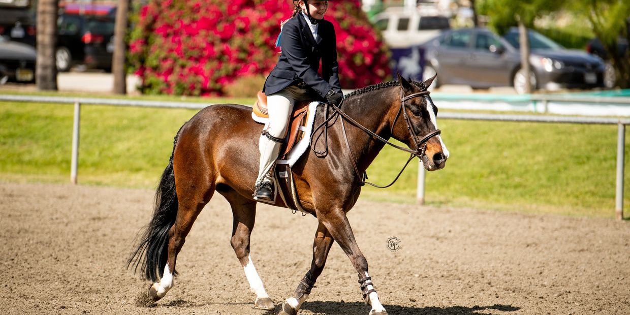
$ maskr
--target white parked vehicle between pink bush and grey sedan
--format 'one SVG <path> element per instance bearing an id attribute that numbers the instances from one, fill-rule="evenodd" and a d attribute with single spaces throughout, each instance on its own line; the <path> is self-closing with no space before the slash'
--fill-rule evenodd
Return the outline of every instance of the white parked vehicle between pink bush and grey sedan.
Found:
<path id="1" fill-rule="evenodd" d="M 422 15 L 415 10 L 384 11 L 376 14 L 372 21 L 393 49 L 418 45 L 450 28 L 446 16 Z"/>

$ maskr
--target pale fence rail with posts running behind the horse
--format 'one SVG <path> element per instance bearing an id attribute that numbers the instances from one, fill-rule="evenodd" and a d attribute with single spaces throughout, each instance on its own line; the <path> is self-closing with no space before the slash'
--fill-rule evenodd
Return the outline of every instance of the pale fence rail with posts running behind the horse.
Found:
<path id="1" fill-rule="evenodd" d="M 71 181 L 77 183 L 77 168 L 79 161 L 79 122 L 81 117 L 81 105 L 110 105 L 110 106 L 137 106 L 154 108 L 188 108 L 201 109 L 212 105 L 210 103 L 190 103 L 175 101 L 142 101 L 142 100 L 120 100 L 108 98 L 72 98 L 61 96 L 25 96 L 25 95 L 0 95 L 0 101 L 28 101 L 37 103 L 74 103 L 74 127 L 72 130 L 72 162 Z M 544 101 L 544 100 L 541 100 Z M 590 102 L 598 103 L 598 100 L 591 99 Z M 623 219 L 624 208 L 624 152 L 626 125 L 630 125 L 629 118 L 604 118 L 604 117 L 569 117 L 552 115 L 505 115 L 486 113 L 440 113 L 441 119 L 457 120 L 485 120 L 502 122 L 539 122 L 539 123 L 583 123 L 583 124 L 604 124 L 617 125 L 617 183 L 616 183 L 616 218 Z M 425 170 L 419 168 L 418 171 L 418 202 L 425 200 Z"/>

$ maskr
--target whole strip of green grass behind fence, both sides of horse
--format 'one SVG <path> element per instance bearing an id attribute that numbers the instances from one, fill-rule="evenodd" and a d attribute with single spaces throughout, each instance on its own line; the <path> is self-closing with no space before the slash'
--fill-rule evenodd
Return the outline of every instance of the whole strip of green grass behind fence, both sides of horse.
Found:
<path id="1" fill-rule="evenodd" d="M 79 183 L 154 188 L 195 112 L 82 106 Z M 0 103 L 0 179 L 68 182 L 72 113 L 71 105 Z M 616 126 L 440 120 L 440 129 L 450 158 L 427 174 L 429 205 L 614 217 Z M 386 147 L 369 180 L 389 183 L 406 157 Z M 366 187 L 364 197 L 415 202 L 417 171 L 412 162 L 394 186 Z"/>

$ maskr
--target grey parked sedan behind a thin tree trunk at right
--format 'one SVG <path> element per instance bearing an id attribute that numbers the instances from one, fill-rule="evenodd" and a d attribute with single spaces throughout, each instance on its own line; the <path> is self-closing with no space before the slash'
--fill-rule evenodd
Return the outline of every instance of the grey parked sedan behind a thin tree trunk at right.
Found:
<path id="1" fill-rule="evenodd" d="M 534 89 L 597 88 L 604 86 L 604 62 L 581 50 L 564 49 L 540 33 L 528 30 L 530 84 Z M 520 64 L 518 29 L 500 37 L 486 28 L 448 31 L 422 45 L 423 77 L 437 73 L 440 84 L 473 88 L 513 86 L 524 93 L 527 81 Z"/>

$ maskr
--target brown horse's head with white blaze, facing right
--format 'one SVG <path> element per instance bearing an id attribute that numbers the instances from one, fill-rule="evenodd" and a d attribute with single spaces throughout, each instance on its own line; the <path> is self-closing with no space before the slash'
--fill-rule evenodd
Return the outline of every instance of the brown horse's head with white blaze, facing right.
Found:
<path id="1" fill-rule="evenodd" d="M 400 106 L 392 113 L 391 130 L 394 139 L 404 142 L 411 149 L 422 146 L 420 142 L 426 136 L 437 130 L 437 107 L 433 104 L 427 88 L 435 76 L 423 83 L 409 82 L 398 74 L 400 84 Z M 403 110 L 404 112 L 402 112 Z M 406 114 L 406 115 L 405 115 Z M 430 137 L 424 144 L 425 154 L 421 156 L 423 166 L 428 171 L 444 168 L 449 158 L 446 148 L 439 134 Z"/>

